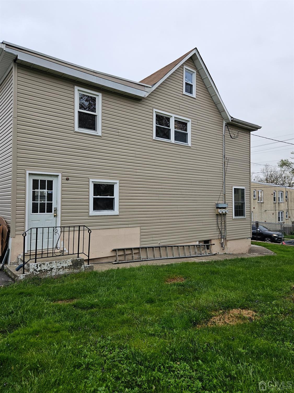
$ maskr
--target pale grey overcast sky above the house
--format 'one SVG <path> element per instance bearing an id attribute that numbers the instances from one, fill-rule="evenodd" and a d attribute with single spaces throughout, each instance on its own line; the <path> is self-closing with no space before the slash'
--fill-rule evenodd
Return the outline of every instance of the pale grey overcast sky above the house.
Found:
<path id="1" fill-rule="evenodd" d="M 0 40 L 135 81 L 197 47 L 230 115 L 286 140 L 294 138 L 293 4 L 2 0 Z M 251 141 L 261 165 L 294 150 Z"/>

